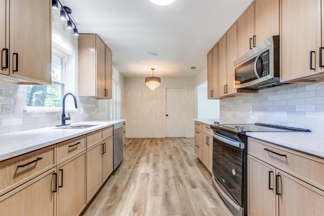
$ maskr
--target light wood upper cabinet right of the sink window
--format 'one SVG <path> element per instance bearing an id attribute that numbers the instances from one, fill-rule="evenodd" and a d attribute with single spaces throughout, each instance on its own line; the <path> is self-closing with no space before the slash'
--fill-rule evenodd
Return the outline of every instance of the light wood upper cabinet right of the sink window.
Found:
<path id="1" fill-rule="evenodd" d="M 106 51 L 106 45 L 97 34 L 80 34 L 78 36 L 79 96 L 98 99 L 111 98 L 111 69 L 108 69 L 109 65 L 111 66 L 111 52 Z M 108 54 L 107 58 L 106 53 Z M 110 86 L 110 89 L 107 89 L 106 84 L 108 87 Z"/>

